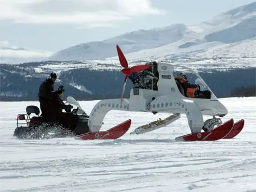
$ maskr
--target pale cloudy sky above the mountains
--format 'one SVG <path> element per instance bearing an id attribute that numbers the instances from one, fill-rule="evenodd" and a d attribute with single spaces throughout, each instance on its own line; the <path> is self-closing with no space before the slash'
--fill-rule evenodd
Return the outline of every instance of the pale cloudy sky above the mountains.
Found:
<path id="1" fill-rule="evenodd" d="M 0 0 L 0 46 L 57 52 L 138 29 L 204 22 L 252 0 Z"/>

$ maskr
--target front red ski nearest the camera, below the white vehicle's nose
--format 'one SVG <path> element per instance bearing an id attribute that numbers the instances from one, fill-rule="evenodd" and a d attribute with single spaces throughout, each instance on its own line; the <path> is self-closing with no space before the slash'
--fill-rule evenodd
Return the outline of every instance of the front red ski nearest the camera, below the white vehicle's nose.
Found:
<path id="1" fill-rule="evenodd" d="M 211 131 L 183 135 L 175 138 L 175 140 L 181 140 L 181 141 L 219 140 L 224 138 L 226 135 L 228 135 L 232 131 L 233 124 L 234 124 L 234 120 L 231 119 Z"/>

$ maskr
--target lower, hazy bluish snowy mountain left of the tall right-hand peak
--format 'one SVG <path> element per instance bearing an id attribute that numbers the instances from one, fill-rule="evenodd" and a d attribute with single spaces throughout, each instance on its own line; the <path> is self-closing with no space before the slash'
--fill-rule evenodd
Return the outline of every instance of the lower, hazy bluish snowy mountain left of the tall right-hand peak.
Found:
<path id="1" fill-rule="evenodd" d="M 142 49 L 156 48 L 183 39 L 195 32 L 184 24 L 173 24 L 169 27 L 125 33 L 104 41 L 94 41 L 71 46 L 52 54 L 48 59 L 55 61 L 102 59 L 117 55 L 115 45 L 122 46 L 124 53 L 136 52 Z"/>

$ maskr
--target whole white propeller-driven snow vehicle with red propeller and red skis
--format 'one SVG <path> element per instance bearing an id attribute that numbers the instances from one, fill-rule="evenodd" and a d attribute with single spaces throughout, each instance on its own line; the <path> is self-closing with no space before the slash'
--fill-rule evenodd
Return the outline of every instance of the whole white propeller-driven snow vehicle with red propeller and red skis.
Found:
<path id="1" fill-rule="evenodd" d="M 167 113 L 167 118 L 137 127 L 130 134 L 143 134 L 154 131 L 160 127 L 169 125 L 178 120 L 180 114 L 185 114 L 191 134 L 178 136 L 175 140 L 182 141 L 206 141 L 218 139 L 230 139 L 238 135 L 243 129 L 244 120 L 234 123 L 233 118 L 222 123 L 221 117 L 228 114 L 228 109 L 217 99 L 207 83 L 192 69 L 181 65 L 172 65 L 164 62 L 148 62 L 145 65 L 128 66 L 128 62 L 117 45 L 117 53 L 121 66 L 121 72 L 125 74 L 121 99 L 106 99 L 99 101 L 90 113 L 88 126 L 89 134 L 77 135 L 80 139 L 116 139 L 125 134 L 130 127 L 131 120 L 127 120 L 117 127 L 113 127 L 112 134 L 108 131 L 100 131 L 102 121 L 110 110 L 122 110 L 125 112 Z M 205 99 L 191 98 L 184 95 L 184 89 L 175 80 L 174 69 L 182 68 L 196 76 L 195 82 L 199 84 L 200 91 L 207 93 Z M 130 98 L 123 99 L 127 79 L 133 82 L 130 90 Z M 212 116 L 208 120 L 203 115 Z M 118 133 L 118 131 L 122 133 Z M 106 135 L 109 136 L 106 137 Z M 96 136 L 97 135 L 97 136 Z M 111 136 L 112 135 L 112 136 Z"/>

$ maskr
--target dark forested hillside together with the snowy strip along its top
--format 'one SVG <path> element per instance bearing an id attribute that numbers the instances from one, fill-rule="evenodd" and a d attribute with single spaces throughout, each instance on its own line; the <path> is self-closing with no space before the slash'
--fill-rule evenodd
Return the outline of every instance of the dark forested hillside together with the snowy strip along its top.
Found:
<path id="1" fill-rule="evenodd" d="M 200 73 L 215 95 L 230 95 L 234 89 L 255 86 L 255 58 L 231 59 L 177 59 L 173 65 L 182 63 Z M 129 61 L 129 66 L 145 61 Z M 175 69 L 177 70 L 177 69 Z M 104 59 L 69 62 L 31 62 L 19 65 L 0 64 L 0 101 L 38 100 L 38 87 L 55 71 L 57 82 L 65 87 L 65 96 L 78 100 L 120 98 L 125 76 L 119 61 Z M 187 72 L 191 82 L 195 76 Z M 129 98 L 133 84 L 128 80 L 125 98 Z"/>

